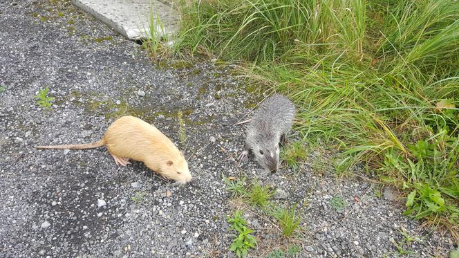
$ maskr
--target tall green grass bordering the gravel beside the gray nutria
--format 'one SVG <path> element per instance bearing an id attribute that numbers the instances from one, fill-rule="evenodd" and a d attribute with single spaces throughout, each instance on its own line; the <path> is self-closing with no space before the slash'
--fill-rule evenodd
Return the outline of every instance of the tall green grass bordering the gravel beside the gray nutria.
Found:
<path id="1" fill-rule="evenodd" d="M 459 1 L 185 1 L 177 51 L 241 64 L 299 109 L 296 129 L 459 228 Z M 347 163 L 346 163 L 347 164 Z"/>

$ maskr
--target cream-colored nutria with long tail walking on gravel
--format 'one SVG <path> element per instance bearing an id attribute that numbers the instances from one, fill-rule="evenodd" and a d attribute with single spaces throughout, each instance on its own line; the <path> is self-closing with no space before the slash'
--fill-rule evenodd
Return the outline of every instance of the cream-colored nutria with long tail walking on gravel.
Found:
<path id="1" fill-rule="evenodd" d="M 191 181 L 188 163 L 182 152 L 156 127 L 133 116 L 119 118 L 106 130 L 104 138 L 82 145 L 36 146 L 37 149 L 91 149 L 106 145 L 117 165 L 126 166 L 129 158 L 178 183 Z"/>

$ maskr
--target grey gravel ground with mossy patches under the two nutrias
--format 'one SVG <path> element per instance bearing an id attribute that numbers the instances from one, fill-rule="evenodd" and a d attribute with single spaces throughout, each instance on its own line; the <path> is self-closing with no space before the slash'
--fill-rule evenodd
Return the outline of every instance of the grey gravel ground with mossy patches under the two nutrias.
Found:
<path id="1" fill-rule="evenodd" d="M 297 171 L 265 174 L 239 165 L 254 99 L 223 66 L 151 61 L 133 42 L 68 1 L 0 1 L 0 257 L 233 257 L 221 174 L 277 186 L 275 201 L 299 204 L 304 230 L 283 239 L 256 210 L 245 212 L 254 257 L 297 244 L 297 257 L 447 257 L 449 234 L 402 216 L 396 192 L 339 180 L 311 151 Z M 50 111 L 34 96 L 48 87 Z M 178 111 L 187 136 L 180 140 Z M 33 149 L 99 140 L 124 114 L 152 122 L 189 157 L 191 184 L 174 185 L 141 163 L 116 167 L 105 148 Z M 413 241 L 406 244 L 406 232 Z"/>

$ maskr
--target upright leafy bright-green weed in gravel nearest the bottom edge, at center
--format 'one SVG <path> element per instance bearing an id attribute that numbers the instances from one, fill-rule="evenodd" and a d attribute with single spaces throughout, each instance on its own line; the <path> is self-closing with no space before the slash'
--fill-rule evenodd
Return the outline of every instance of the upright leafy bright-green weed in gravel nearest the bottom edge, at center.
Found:
<path id="1" fill-rule="evenodd" d="M 231 223 L 230 229 L 238 232 L 238 236 L 233 240 L 229 250 L 236 252 L 237 257 L 245 257 L 250 248 L 255 248 L 256 239 L 250 234 L 254 230 L 247 228 L 247 222 L 243 219 L 241 211 L 234 212 L 232 217 L 228 216 L 227 221 Z"/>

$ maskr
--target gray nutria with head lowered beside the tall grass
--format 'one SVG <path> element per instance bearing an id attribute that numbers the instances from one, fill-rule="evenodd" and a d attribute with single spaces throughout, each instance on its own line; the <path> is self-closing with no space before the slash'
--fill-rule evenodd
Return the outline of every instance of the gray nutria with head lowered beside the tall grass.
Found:
<path id="1" fill-rule="evenodd" d="M 279 142 L 292 129 L 295 116 L 294 104 L 284 95 L 274 94 L 261 103 L 246 128 L 244 151 L 240 160 L 252 149 L 255 160 L 268 172 L 279 167 Z"/>

